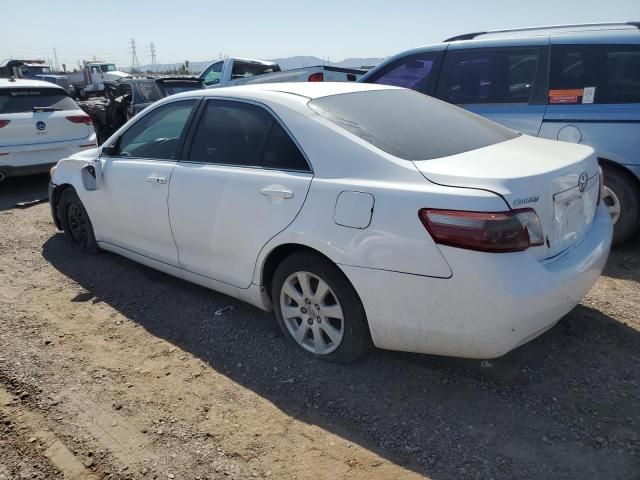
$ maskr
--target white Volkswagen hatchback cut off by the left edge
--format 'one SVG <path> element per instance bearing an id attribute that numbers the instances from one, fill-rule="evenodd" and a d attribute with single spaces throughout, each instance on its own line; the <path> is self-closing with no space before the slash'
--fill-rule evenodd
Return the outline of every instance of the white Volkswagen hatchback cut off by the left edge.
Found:
<path id="1" fill-rule="evenodd" d="M 61 158 L 96 146 L 91 118 L 62 87 L 0 79 L 0 180 L 48 172 Z"/>

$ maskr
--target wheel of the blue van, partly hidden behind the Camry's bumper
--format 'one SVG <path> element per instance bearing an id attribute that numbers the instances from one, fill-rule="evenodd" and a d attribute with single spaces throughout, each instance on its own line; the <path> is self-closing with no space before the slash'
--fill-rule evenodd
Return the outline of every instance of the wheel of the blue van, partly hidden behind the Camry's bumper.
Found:
<path id="1" fill-rule="evenodd" d="M 604 167 L 602 201 L 613 220 L 613 245 L 627 241 L 640 225 L 640 192 L 627 175 L 617 169 Z"/>

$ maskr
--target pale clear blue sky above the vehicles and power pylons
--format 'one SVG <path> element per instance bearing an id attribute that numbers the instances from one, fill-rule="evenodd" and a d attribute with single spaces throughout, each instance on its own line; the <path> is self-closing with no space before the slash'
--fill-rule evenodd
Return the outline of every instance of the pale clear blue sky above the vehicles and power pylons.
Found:
<path id="1" fill-rule="evenodd" d="M 228 56 L 386 57 L 465 32 L 640 21 L 640 0 L 4 0 L 0 61 L 131 66 Z M 86 13 L 83 13 L 86 12 Z"/>

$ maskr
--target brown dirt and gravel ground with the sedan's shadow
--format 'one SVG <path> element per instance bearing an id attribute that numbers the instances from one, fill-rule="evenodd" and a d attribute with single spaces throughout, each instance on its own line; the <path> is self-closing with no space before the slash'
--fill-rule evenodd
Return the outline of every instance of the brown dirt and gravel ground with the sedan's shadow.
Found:
<path id="1" fill-rule="evenodd" d="M 48 204 L 14 207 L 46 184 L 0 184 L 0 480 L 640 478 L 640 240 L 503 358 L 343 367 L 270 314 L 72 251 Z"/>

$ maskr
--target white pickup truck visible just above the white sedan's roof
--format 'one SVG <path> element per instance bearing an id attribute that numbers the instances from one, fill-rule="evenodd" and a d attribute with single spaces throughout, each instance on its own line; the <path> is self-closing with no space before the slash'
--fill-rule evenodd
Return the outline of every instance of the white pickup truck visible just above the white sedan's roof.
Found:
<path id="1" fill-rule="evenodd" d="M 200 74 L 206 88 L 275 82 L 355 82 L 365 70 L 314 67 L 282 70 L 277 63 L 249 58 L 225 58 L 212 63 Z"/>

